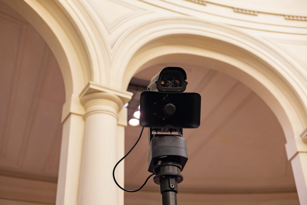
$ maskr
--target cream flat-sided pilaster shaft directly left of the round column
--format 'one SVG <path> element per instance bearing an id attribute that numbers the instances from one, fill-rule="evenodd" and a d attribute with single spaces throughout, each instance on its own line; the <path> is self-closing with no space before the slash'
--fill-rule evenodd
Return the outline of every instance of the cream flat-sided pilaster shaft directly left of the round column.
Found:
<path id="1" fill-rule="evenodd" d="M 56 205 L 77 204 L 83 138 L 83 116 L 69 114 L 63 122 Z"/>

